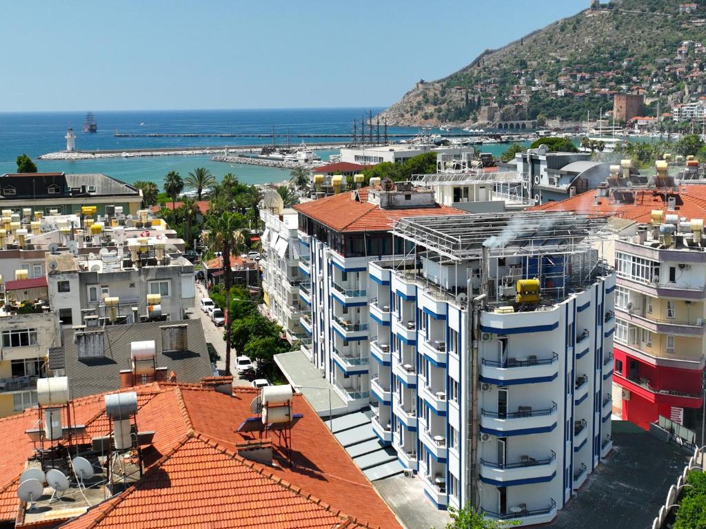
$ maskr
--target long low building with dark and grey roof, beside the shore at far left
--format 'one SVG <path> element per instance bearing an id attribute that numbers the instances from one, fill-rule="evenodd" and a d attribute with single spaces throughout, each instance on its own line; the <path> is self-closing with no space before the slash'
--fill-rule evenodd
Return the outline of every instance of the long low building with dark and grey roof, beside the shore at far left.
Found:
<path id="1" fill-rule="evenodd" d="M 126 215 L 134 215 L 142 202 L 139 189 L 100 173 L 6 173 L 0 176 L 0 196 L 2 207 L 16 213 L 31 208 L 44 214 L 51 210 L 69 214 L 91 203 L 99 215 L 108 213 L 108 206 L 121 207 Z"/>

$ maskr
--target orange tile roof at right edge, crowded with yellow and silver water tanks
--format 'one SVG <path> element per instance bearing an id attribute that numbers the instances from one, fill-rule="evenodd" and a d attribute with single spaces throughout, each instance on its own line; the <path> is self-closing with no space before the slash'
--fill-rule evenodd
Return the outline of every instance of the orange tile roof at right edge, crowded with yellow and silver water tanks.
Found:
<path id="1" fill-rule="evenodd" d="M 671 188 L 669 188 L 671 189 Z M 530 208 L 535 211 L 575 211 L 585 215 L 607 215 L 637 222 L 650 222 L 652 210 L 666 211 L 665 196 L 676 198 L 675 213 L 686 218 L 706 218 L 706 186 L 686 184 L 678 186 L 678 191 L 660 191 L 658 189 L 640 189 L 635 191 L 633 203 L 616 203 L 611 196 L 599 196 L 594 202 L 597 190 L 586 191 L 580 195 L 559 202 L 546 202 Z"/>

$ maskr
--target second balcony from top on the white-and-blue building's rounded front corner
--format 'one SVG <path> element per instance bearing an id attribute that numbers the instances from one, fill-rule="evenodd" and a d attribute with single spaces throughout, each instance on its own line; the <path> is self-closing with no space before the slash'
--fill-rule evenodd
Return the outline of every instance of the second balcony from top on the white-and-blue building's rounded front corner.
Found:
<path id="1" fill-rule="evenodd" d="M 556 403 L 548 408 L 518 406 L 516 412 L 481 410 L 481 432 L 497 436 L 515 436 L 551 432 L 556 427 Z"/>

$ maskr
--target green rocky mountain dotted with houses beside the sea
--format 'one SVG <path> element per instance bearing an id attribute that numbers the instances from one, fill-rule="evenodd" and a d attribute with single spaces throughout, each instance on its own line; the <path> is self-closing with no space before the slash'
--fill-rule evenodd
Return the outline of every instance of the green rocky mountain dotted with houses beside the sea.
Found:
<path id="1" fill-rule="evenodd" d="M 617 93 L 667 112 L 706 91 L 706 0 L 594 1 L 438 81 L 419 81 L 386 109 L 388 125 L 436 126 L 597 117 Z M 498 24 L 501 27 L 501 24 Z"/>

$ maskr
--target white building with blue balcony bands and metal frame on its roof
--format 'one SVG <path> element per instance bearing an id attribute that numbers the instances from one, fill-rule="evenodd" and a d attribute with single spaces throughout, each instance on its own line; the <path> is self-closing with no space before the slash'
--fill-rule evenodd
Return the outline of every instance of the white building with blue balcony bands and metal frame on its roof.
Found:
<path id="1" fill-rule="evenodd" d="M 373 427 L 439 509 L 547 523 L 611 450 L 615 274 L 592 247 L 604 226 L 401 218 L 405 256 L 369 263 Z"/>

